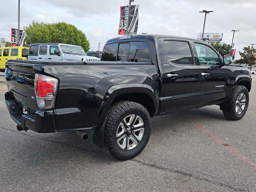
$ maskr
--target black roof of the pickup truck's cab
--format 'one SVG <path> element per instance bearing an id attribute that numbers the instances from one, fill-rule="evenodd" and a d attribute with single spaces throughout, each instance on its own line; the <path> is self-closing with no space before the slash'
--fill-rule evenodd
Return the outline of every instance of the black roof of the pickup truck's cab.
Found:
<path id="1" fill-rule="evenodd" d="M 174 35 L 158 35 L 158 34 L 137 34 L 137 35 L 125 35 L 125 36 L 130 36 L 131 38 L 127 38 L 127 39 L 131 39 L 131 40 L 145 40 L 148 37 L 152 37 L 152 38 L 161 38 L 161 37 L 163 37 L 163 38 L 180 38 L 180 39 L 198 40 L 198 39 L 189 38 L 189 37 L 174 36 Z M 121 37 L 123 37 L 123 38 L 121 38 Z M 124 38 L 124 36 L 119 36 L 119 37 L 109 39 L 106 43 L 116 42 L 116 41 L 120 41 L 120 40 L 125 41 L 127 39 Z M 199 41 L 201 41 L 201 40 L 199 40 Z"/>

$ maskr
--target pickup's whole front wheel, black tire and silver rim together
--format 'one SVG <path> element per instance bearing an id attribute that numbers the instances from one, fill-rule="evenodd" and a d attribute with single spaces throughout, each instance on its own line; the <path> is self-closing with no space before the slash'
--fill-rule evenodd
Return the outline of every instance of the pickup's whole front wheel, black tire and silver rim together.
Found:
<path id="1" fill-rule="evenodd" d="M 233 99 L 224 106 L 223 114 L 230 120 L 240 120 L 246 114 L 249 104 L 249 93 L 245 86 L 238 85 Z"/>

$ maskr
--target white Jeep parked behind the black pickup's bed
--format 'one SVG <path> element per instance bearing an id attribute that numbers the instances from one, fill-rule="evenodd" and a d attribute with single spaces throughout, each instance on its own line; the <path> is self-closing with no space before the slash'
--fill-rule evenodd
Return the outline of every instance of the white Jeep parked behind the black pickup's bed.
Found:
<path id="1" fill-rule="evenodd" d="M 28 60 L 42 61 L 81 61 L 100 60 L 100 58 L 87 56 L 83 48 L 76 45 L 62 43 L 30 44 Z"/>

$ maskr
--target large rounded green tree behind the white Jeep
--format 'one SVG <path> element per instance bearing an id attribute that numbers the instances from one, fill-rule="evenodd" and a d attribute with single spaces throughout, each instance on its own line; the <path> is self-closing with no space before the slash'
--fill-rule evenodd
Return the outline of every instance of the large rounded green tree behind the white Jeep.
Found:
<path id="1" fill-rule="evenodd" d="M 90 49 L 90 43 L 82 30 L 65 22 L 44 23 L 33 21 L 25 26 L 26 44 L 31 43 L 65 43 L 81 46 L 85 52 Z"/>

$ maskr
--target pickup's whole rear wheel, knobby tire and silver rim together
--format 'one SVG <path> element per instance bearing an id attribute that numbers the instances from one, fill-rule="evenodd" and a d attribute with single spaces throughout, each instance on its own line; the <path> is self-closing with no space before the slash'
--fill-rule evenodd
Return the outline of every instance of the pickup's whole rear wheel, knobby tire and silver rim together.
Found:
<path id="1" fill-rule="evenodd" d="M 118 160 L 137 156 L 151 133 L 151 119 L 141 104 L 122 101 L 110 107 L 104 131 L 104 147 Z"/>

